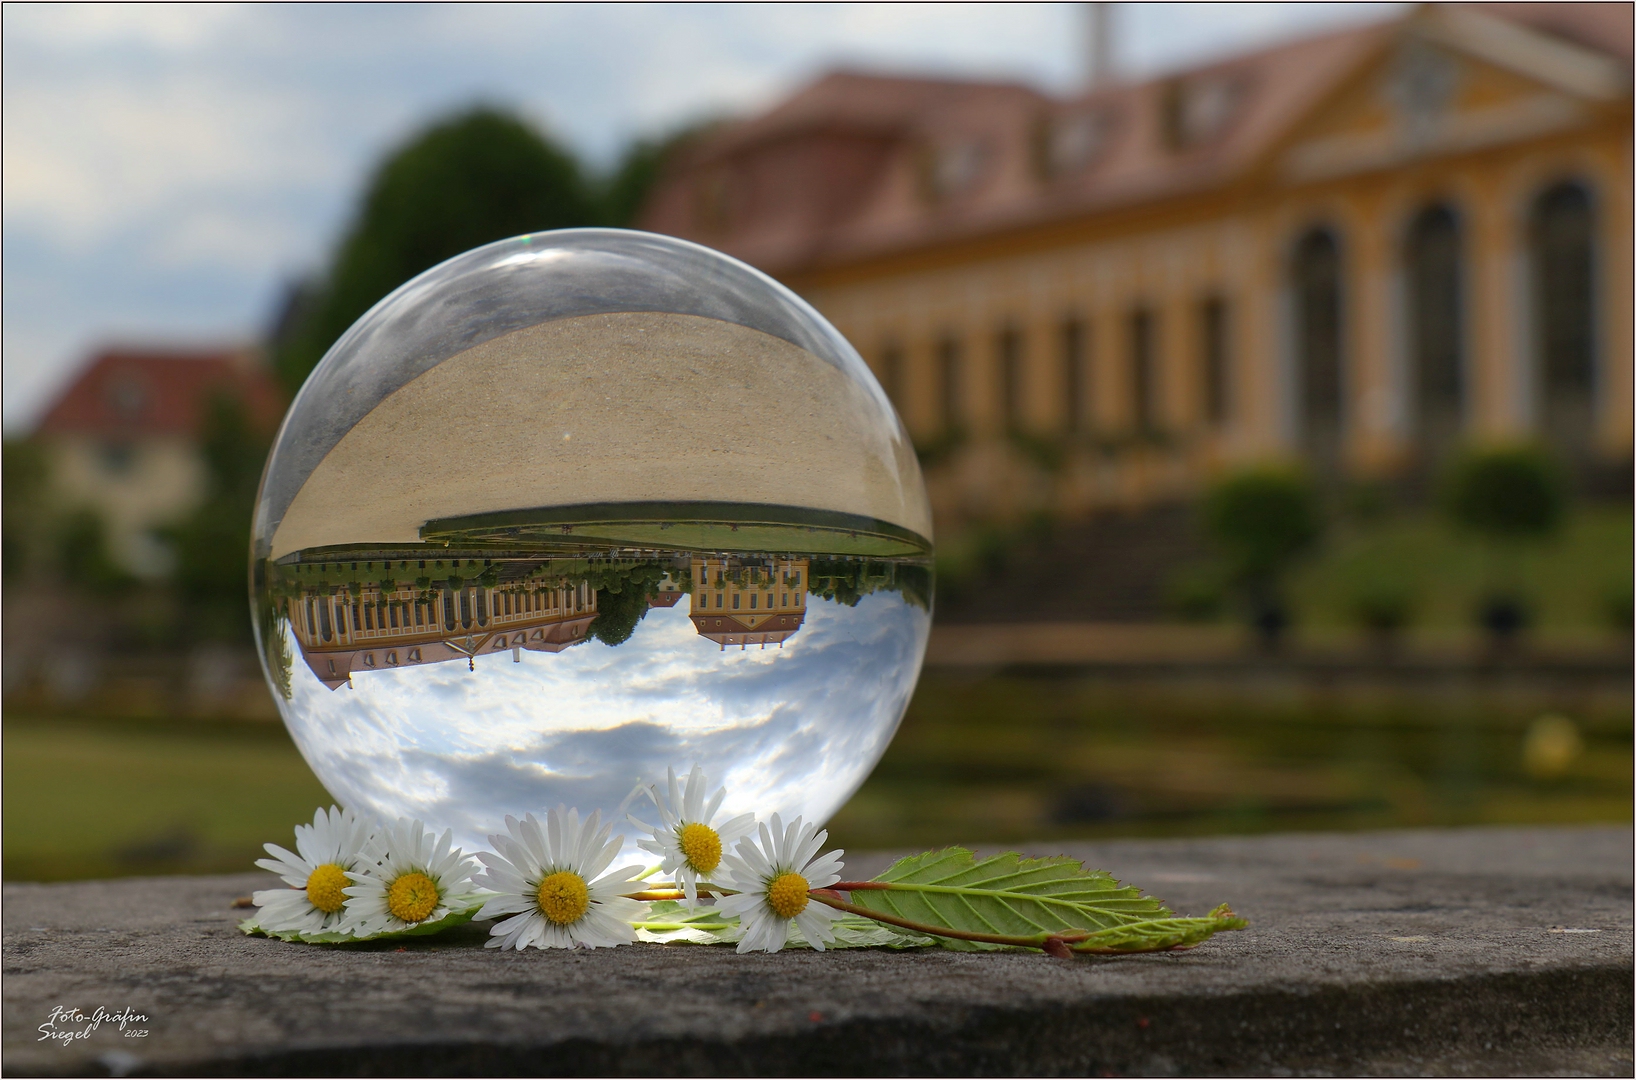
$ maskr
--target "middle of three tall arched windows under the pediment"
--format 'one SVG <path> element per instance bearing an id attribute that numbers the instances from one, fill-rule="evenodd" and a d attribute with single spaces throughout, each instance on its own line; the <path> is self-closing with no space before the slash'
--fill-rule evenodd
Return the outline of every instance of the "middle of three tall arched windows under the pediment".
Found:
<path id="1" fill-rule="evenodd" d="M 1410 223 L 1404 272 L 1415 442 L 1435 468 L 1459 442 L 1466 411 L 1461 236 L 1448 206 L 1428 206 Z"/>

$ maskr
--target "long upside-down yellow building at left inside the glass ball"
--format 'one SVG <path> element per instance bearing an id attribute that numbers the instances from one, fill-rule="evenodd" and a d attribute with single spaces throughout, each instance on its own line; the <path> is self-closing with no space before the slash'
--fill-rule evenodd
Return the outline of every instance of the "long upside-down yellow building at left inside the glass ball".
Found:
<path id="1" fill-rule="evenodd" d="M 329 689 L 355 671 L 384 671 L 465 659 L 483 653 L 561 653 L 586 640 L 597 617 L 587 583 L 555 586 L 381 589 L 363 586 L 326 594 L 309 589 L 285 599 L 285 615 L 312 674 Z"/>

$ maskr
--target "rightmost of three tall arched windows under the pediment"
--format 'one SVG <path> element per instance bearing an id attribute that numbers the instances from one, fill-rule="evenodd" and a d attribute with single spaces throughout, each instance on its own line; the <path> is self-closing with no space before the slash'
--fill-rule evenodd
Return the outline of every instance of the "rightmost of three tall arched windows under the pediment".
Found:
<path id="1" fill-rule="evenodd" d="M 1539 427 L 1569 458 L 1595 429 L 1595 213 L 1579 183 L 1559 183 L 1533 205 L 1535 388 Z"/>

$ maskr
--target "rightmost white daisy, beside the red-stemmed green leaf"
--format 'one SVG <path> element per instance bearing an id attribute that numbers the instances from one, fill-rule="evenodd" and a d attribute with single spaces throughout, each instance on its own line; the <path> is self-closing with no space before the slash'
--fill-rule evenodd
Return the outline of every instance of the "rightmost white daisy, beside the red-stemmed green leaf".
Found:
<path id="1" fill-rule="evenodd" d="M 721 897 L 717 910 L 738 915 L 744 936 L 739 952 L 777 952 L 790 938 L 790 920 L 802 928 L 807 944 L 823 952 L 834 941 L 829 923 L 841 913 L 825 903 L 811 903 L 807 892 L 825 889 L 841 880 L 841 853 L 831 851 L 815 859 L 828 831 L 816 825 L 802 826 L 795 818 L 785 828 L 779 815 L 772 815 L 772 831 L 761 825 L 761 846 L 754 836 L 738 841 L 738 853 L 723 856 L 731 885 L 739 892 Z"/>

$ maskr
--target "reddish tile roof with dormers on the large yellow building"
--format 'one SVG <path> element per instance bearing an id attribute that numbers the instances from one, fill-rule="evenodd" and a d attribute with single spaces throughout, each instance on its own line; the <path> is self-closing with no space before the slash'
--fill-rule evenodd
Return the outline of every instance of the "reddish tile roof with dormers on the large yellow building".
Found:
<path id="1" fill-rule="evenodd" d="M 1631 56 L 1631 5 L 1469 7 Z M 1405 18 L 1072 98 L 834 72 L 682 151 L 641 227 L 792 273 L 1219 188 Z"/>

